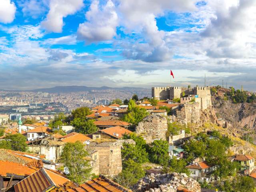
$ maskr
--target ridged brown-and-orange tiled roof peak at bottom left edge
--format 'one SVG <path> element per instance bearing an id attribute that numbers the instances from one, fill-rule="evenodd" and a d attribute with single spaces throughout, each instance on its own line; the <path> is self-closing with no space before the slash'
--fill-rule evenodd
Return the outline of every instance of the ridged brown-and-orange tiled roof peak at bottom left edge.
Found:
<path id="1" fill-rule="evenodd" d="M 14 185 L 15 192 L 42 192 L 51 191 L 51 188 L 63 187 L 64 183 L 70 182 L 56 173 L 45 168 L 41 168 L 34 174 L 21 180 Z"/>

